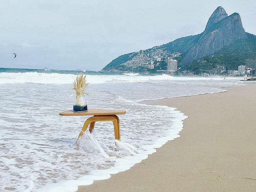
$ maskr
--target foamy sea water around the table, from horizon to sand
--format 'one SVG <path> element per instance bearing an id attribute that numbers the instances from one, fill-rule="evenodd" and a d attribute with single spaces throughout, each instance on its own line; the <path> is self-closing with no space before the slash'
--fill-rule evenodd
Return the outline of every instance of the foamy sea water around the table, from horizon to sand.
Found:
<path id="1" fill-rule="evenodd" d="M 88 108 L 126 110 L 119 115 L 120 142 L 111 123 L 97 122 L 76 143 L 87 117 L 59 115 L 72 110 L 77 71 L 0 68 L 1 192 L 71 192 L 110 178 L 180 137 L 187 116 L 140 101 L 243 85 L 239 78 L 83 73 Z"/>

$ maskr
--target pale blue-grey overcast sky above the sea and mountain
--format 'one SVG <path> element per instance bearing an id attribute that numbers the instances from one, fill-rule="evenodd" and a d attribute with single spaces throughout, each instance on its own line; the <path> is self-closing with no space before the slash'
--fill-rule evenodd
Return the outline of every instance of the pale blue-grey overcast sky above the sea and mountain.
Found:
<path id="1" fill-rule="evenodd" d="M 218 6 L 256 34 L 255 0 L 2 0 L 0 67 L 97 71 L 119 55 L 203 32 Z"/>

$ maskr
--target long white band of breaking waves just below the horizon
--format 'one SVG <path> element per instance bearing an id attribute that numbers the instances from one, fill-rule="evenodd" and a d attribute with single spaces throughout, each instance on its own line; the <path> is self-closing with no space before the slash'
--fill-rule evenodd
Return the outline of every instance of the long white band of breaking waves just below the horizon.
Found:
<path id="1" fill-rule="evenodd" d="M 14 84 L 14 83 L 39 83 L 39 84 L 72 84 L 76 75 L 74 74 L 59 74 L 59 73 L 0 73 L 0 84 Z M 123 82 L 151 82 L 164 80 L 223 80 L 223 77 L 183 77 L 171 75 L 139 75 L 139 74 L 125 74 L 125 75 L 87 75 L 89 83 L 123 83 Z M 232 80 L 233 78 L 227 78 Z"/>

